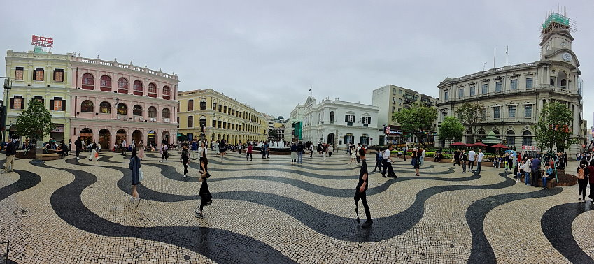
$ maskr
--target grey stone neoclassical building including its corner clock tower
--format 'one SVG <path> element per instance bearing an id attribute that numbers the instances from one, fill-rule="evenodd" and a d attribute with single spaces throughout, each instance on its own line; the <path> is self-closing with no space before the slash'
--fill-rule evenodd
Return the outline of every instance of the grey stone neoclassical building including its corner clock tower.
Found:
<path id="1" fill-rule="evenodd" d="M 465 130 L 464 142 L 481 140 L 493 131 L 502 143 L 520 150 L 523 145 L 535 146 L 532 126 L 538 121 L 545 103 L 556 101 L 567 105 L 574 113 L 572 145 L 567 152 L 577 152 L 586 143 L 586 121 L 582 113 L 582 85 L 579 61 L 572 51 L 570 19 L 552 13 L 542 24 L 541 56 L 539 61 L 492 68 L 459 78 L 446 78 L 439 83 L 437 123 L 446 116 L 458 116 L 463 103 L 479 103 L 479 126 L 474 138 Z M 441 146 L 449 142 L 436 139 Z"/>

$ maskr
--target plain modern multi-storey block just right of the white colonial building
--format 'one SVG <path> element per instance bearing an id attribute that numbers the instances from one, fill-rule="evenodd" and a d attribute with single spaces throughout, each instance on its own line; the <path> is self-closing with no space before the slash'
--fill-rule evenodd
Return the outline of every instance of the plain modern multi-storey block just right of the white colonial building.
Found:
<path id="1" fill-rule="evenodd" d="M 379 108 L 377 127 L 390 126 L 390 134 L 381 135 L 379 145 L 418 142 L 416 135 L 402 131 L 402 126 L 392 119 L 395 112 L 411 108 L 411 105 L 416 102 L 433 107 L 436 105 L 437 99 L 396 85 L 386 85 L 373 91 L 372 105 Z M 437 122 L 427 128 L 427 138 L 423 141 L 429 145 L 434 144 L 436 129 Z"/>

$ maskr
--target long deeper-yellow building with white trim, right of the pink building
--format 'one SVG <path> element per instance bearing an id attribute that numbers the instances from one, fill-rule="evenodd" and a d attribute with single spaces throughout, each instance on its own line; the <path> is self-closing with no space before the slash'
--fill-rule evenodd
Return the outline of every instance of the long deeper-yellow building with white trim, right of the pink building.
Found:
<path id="1" fill-rule="evenodd" d="M 178 91 L 178 101 L 178 130 L 189 139 L 225 139 L 237 144 L 268 136 L 262 113 L 213 89 Z"/>

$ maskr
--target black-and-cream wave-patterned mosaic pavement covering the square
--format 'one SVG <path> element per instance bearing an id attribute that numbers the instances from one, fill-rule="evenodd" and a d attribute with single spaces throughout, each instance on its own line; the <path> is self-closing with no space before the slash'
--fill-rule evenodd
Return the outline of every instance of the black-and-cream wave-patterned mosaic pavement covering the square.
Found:
<path id="1" fill-rule="evenodd" d="M 355 221 L 359 166 L 342 154 L 211 156 L 204 219 L 198 163 L 148 153 L 139 207 L 125 156 L 16 161 L 0 175 L 0 241 L 15 263 L 594 263 L 594 205 L 577 186 L 537 189 L 502 169 L 481 175 L 426 162 L 414 176 L 372 173 L 374 224 Z M 83 155 L 84 156 L 84 155 Z M 129 157 L 128 157 L 129 158 Z M 374 162 L 369 161 L 369 171 Z"/>

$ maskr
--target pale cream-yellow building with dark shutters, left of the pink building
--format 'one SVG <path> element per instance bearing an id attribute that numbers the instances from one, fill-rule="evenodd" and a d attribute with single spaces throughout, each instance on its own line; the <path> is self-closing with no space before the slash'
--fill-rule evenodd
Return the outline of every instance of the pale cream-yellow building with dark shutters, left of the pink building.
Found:
<path id="1" fill-rule="evenodd" d="M 69 57 L 73 54 L 52 54 L 41 50 L 29 52 L 6 52 L 6 76 L 12 79 L 6 107 L 6 130 L 15 134 L 18 115 L 27 109 L 31 99 L 43 101 L 50 110 L 55 129 L 43 139 L 54 138 L 58 142 L 70 138 L 71 84 Z M 6 94 L 4 95 L 6 99 Z M 8 138 L 8 137 L 7 137 Z M 24 138 L 23 138 L 24 140 Z"/>

